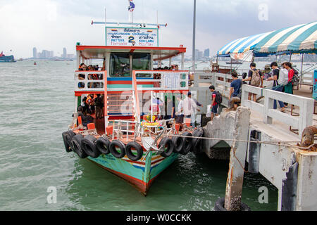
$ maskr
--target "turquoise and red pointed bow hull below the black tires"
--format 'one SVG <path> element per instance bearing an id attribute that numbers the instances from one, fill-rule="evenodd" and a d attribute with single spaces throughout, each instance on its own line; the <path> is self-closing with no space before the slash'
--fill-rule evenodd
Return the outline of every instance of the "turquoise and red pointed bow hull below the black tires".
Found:
<path id="1" fill-rule="evenodd" d="M 108 170 L 108 172 L 125 179 L 142 194 L 147 195 L 149 187 L 157 176 L 177 158 L 177 153 L 173 153 L 168 158 L 163 158 L 161 155 L 153 155 L 150 152 L 144 162 L 142 162 L 142 159 L 134 162 L 126 156 L 118 159 L 111 154 L 102 154 L 98 158 L 88 157 L 87 159 Z"/>

